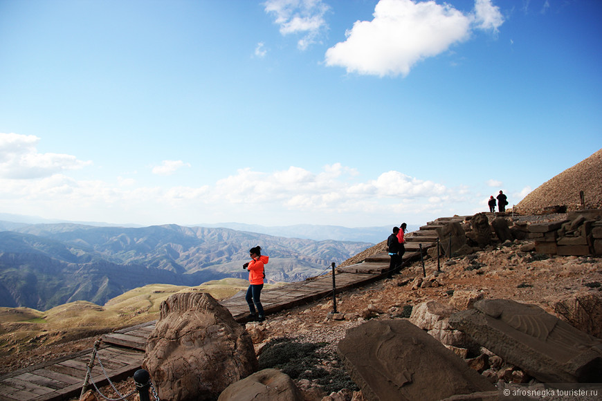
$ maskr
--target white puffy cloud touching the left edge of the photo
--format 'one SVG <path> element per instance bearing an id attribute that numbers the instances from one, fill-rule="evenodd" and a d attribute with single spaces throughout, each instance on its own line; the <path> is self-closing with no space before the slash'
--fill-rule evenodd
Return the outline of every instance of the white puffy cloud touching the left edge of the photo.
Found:
<path id="1" fill-rule="evenodd" d="M 71 155 L 39 153 L 38 142 L 33 135 L 0 133 L 0 178 L 44 178 L 91 164 Z"/>

